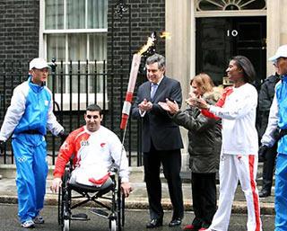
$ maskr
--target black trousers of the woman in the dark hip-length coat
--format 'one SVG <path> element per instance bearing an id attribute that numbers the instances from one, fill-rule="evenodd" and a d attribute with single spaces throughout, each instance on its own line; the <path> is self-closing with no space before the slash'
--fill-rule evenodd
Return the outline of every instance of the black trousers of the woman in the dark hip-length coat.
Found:
<path id="1" fill-rule="evenodd" d="M 215 173 L 191 173 L 192 201 L 196 218 L 192 224 L 208 228 L 216 211 Z"/>

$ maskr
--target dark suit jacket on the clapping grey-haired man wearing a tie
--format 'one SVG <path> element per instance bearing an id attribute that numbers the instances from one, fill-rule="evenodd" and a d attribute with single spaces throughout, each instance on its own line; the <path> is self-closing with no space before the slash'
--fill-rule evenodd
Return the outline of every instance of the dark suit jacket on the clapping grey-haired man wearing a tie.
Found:
<path id="1" fill-rule="evenodd" d="M 149 81 L 141 84 L 137 90 L 137 97 L 132 108 L 134 118 L 141 118 L 138 104 L 143 99 L 152 102 L 152 110 L 147 111 L 143 116 L 143 152 L 151 149 L 151 139 L 157 150 L 174 150 L 183 147 L 178 125 L 174 123 L 167 111 L 161 109 L 158 102 L 165 102 L 166 98 L 182 102 L 181 87 L 177 80 L 164 76 L 156 93 L 151 99 L 151 83 Z"/>

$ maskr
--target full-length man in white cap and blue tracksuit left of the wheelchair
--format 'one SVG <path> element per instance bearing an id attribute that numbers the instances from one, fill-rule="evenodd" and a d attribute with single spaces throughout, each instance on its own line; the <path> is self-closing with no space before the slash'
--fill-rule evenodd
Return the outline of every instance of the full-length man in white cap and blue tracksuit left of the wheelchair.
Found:
<path id="1" fill-rule="evenodd" d="M 64 136 L 64 128 L 53 113 L 52 94 L 45 82 L 48 64 L 42 58 L 30 61 L 28 81 L 15 87 L 0 131 L 0 147 L 12 137 L 18 191 L 18 216 L 22 227 L 44 223 L 39 216 L 46 193 L 48 164 L 45 135 L 49 129 L 56 136 Z"/>

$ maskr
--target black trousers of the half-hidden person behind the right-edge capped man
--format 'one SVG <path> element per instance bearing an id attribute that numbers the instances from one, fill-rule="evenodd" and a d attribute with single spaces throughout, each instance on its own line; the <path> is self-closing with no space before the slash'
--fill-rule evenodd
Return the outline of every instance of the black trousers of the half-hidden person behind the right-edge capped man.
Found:
<path id="1" fill-rule="evenodd" d="M 274 175 L 274 165 L 275 159 L 277 155 L 277 144 L 273 147 L 267 149 L 265 153 L 265 161 L 263 164 L 263 183 L 262 183 L 262 191 L 271 192 L 273 175 Z"/>

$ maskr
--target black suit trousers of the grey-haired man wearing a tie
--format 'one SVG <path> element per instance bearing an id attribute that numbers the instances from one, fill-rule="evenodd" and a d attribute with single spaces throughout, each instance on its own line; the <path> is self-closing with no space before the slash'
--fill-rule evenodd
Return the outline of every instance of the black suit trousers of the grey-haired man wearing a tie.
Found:
<path id="1" fill-rule="evenodd" d="M 170 200 L 173 206 L 172 218 L 183 218 L 184 206 L 182 197 L 182 183 L 180 178 L 181 154 L 180 149 L 159 151 L 154 147 L 150 152 L 143 153 L 144 181 L 149 200 L 150 217 L 162 218 L 161 179 L 160 169 L 168 182 Z"/>

